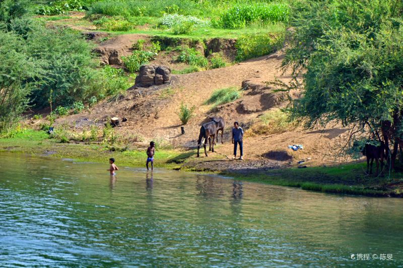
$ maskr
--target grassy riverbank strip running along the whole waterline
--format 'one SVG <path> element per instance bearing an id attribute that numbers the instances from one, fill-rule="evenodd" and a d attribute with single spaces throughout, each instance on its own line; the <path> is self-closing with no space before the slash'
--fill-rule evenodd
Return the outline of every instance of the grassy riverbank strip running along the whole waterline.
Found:
<path id="1" fill-rule="evenodd" d="M 117 151 L 102 143 L 60 143 L 50 139 L 44 131 L 24 130 L 11 138 L 0 139 L 0 151 L 26 153 L 35 156 L 72 158 L 77 161 L 108 163 L 110 157 L 117 165 L 141 167 L 145 164 L 146 147 L 131 145 Z M 208 168 L 210 163 L 240 168 Z M 204 165 L 200 165 L 204 163 Z M 207 164 L 209 163 L 209 164 Z M 365 174 L 365 163 L 338 166 L 310 166 L 307 168 L 278 168 L 272 162 L 237 161 L 222 155 L 195 158 L 195 150 L 158 149 L 156 167 L 196 172 L 214 172 L 232 176 L 236 180 L 299 187 L 303 190 L 324 193 L 365 195 L 377 197 L 402 197 L 403 173 L 385 171 L 383 176 Z M 200 167 L 203 166 L 203 167 Z"/>

